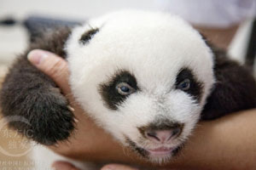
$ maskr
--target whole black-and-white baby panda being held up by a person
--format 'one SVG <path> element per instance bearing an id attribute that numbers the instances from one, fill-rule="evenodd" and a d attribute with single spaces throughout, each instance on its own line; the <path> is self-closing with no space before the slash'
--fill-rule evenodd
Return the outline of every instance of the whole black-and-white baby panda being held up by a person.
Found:
<path id="1" fill-rule="evenodd" d="M 120 11 L 73 29 L 59 28 L 31 44 L 3 82 L 3 115 L 25 117 L 32 139 L 68 139 L 73 112 L 55 82 L 26 59 L 34 48 L 67 59 L 75 99 L 98 126 L 148 161 L 171 160 L 196 123 L 255 108 L 247 69 L 171 14 Z"/>

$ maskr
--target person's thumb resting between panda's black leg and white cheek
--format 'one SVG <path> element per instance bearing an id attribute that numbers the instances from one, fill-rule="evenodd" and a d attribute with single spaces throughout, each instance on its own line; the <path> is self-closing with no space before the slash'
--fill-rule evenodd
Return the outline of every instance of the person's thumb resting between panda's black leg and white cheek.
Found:
<path id="1" fill-rule="evenodd" d="M 27 59 L 40 71 L 51 77 L 65 94 L 70 93 L 68 86 L 67 61 L 56 54 L 41 49 L 34 49 L 27 54 Z"/>

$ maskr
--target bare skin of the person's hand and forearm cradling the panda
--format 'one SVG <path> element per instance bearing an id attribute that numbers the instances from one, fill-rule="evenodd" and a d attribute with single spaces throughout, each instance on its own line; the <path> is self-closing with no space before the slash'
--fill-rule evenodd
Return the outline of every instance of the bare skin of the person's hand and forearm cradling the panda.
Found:
<path id="1" fill-rule="evenodd" d="M 39 70 L 53 78 L 67 95 L 78 119 L 77 131 L 69 142 L 49 146 L 63 156 L 81 161 L 108 161 L 152 166 L 150 162 L 141 160 L 131 150 L 123 148 L 113 140 L 110 134 L 86 116 L 74 101 L 68 86 L 67 61 L 61 57 L 33 50 L 28 59 Z M 40 56 L 44 56 L 40 58 Z M 254 169 L 256 167 L 256 110 L 241 111 L 224 116 L 211 122 L 199 122 L 188 143 L 170 163 L 162 167 L 177 169 Z M 61 168 L 59 168 L 62 166 Z M 63 167 L 64 166 L 64 167 Z M 121 167 L 120 167 L 121 166 Z M 123 166 L 123 167 L 122 167 Z M 157 165 L 154 165 L 158 168 Z M 56 169 L 73 169 L 67 162 L 55 162 Z M 107 165 L 111 169 L 132 170 L 124 165 Z M 102 169 L 109 169 L 103 167 Z"/>

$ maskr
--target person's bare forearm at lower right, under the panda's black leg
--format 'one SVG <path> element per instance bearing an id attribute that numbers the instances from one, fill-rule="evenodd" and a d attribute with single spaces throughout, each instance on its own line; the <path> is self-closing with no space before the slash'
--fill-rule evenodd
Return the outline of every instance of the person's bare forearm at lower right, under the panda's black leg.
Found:
<path id="1" fill-rule="evenodd" d="M 253 169 L 256 167 L 256 110 L 201 122 L 181 156 L 168 167 Z"/>

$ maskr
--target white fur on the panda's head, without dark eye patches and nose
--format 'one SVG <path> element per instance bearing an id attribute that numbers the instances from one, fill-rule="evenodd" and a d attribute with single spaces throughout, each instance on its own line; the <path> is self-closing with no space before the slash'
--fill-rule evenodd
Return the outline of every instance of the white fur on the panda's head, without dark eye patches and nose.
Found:
<path id="1" fill-rule="evenodd" d="M 88 44 L 79 43 L 91 27 L 100 31 Z M 122 144 L 126 144 L 127 136 L 138 146 L 155 148 L 146 139 L 141 142 L 137 130 L 153 122 L 155 116 L 184 123 L 183 133 L 170 146 L 180 144 L 198 122 L 214 82 L 211 50 L 197 31 L 170 14 L 123 11 L 90 20 L 73 30 L 66 50 L 75 98 L 99 126 Z M 183 67 L 192 70 L 204 84 L 199 105 L 189 94 L 174 88 Z M 119 110 L 112 111 L 104 105 L 98 88 L 118 70 L 133 73 L 141 91 L 131 94 Z"/>

